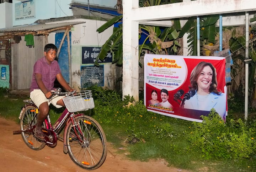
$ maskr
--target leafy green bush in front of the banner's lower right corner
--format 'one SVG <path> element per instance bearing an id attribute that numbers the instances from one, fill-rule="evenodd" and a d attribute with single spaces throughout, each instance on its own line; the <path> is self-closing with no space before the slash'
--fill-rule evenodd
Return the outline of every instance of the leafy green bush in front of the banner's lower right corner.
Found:
<path id="1" fill-rule="evenodd" d="M 256 152 L 255 127 L 241 119 L 224 123 L 214 110 L 202 119 L 202 123 L 193 122 L 187 133 L 190 149 L 201 150 L 205 159 L 248 158 Z"/>

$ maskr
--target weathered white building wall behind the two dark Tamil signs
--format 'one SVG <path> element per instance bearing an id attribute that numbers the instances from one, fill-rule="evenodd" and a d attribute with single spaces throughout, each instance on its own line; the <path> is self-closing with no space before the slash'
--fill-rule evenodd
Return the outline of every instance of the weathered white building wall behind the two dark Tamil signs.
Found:
<path id="1" fill-rule="evenodd" d="M 81 66 L 94 65 L 82 64 L 82 47 L 101 47 L 113 33 L 113 27 L 102 33 L 96 31 L 104 23 L 106 22 L 85 19 L 85 23 L 74 25 L 71 29 L 71 80 L 72 87 L 76 90 L 81 88 Z M 49 34 L 48 43 L 55 44 L 55 33 Z M 111 63 L 101 63 L 100 65 L 104 65 L 104 86 L 113 89 L 114 65 Z"/>

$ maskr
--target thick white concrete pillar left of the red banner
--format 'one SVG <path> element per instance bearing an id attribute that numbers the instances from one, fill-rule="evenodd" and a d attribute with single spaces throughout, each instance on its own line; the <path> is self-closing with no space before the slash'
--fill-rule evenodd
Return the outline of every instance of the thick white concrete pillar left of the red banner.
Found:
<path id="1" fill-rule="evenodd" d="M 130 19 L 138 0 L 123 0 L 123 98 L 128 95 L 139 100 L 139 23 Z"/>

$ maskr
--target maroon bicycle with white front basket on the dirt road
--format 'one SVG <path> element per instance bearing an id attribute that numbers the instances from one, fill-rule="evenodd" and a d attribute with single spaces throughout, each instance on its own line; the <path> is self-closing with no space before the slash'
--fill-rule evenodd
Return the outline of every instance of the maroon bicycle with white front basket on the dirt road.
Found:
<path id="1" fill-rule="evenodd" d="M 94 108 L 94 100 L 90 90 L 79 92 L 61 92 L 60 88 L 52 93 L 54 96 L 65 95 L 63 101 L 65 110 L 58 120 L 52 125 L 50 116 L 44 120 L 42 132 L 44 141 L 38 140 L 33 133 L 37 125 L 38 107 L 31 99 L 25 102 L 20 112 L 20 128 L 13 134 L 20 134 L 25 144 L 33 150 L 41 150 L 45 145 L 55 147 L 57 139 L 63 141 L 63 151 L 69 154 L 72 161 L 86 169 L 95 170 L 106 159 L 106 136 L 100 124 L 90 116 L 74 112 Z M 50 101 L 50 100 L 49 100 Z M 63 138 L 59 134 L 64 130 Z"/>

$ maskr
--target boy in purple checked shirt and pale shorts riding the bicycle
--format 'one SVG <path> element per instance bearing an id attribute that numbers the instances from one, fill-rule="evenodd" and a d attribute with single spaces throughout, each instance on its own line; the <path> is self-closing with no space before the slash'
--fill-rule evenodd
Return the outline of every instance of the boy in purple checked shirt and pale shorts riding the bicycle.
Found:
<path id="1" fill-rule="evenodd" d="M 58 96 L 48 102 L 49 98 L 52 96 L 50 91 L 55 90 L 55 79 L 58 80 L 65 90 L 70 92 L 74 91 L 61 74 L 59 64 L 55 60 L 56 53 L 57 47 L 54 44 L 47 44 L 44 46 L 44 57 L 38 59 L 33 68 L 30 98 L 39 109 L 37 126 L 33 130 L 35 137 L 39 140 L 44 140 L 41 126 L 49 113 L 49 104 L 52 103 L 57 108 L 65 107 L 62 100 L 64 96 Z"/>

